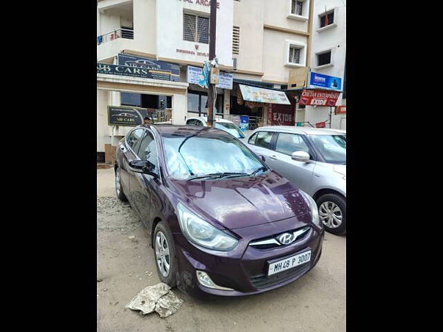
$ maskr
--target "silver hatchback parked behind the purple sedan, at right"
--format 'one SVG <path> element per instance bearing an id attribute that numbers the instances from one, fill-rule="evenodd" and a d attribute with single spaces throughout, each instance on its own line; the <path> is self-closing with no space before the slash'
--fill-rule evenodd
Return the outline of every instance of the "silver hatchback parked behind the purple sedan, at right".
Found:
<path id="1" fill-rule="evenodd" d="M 325 230 L 346 233 L 346 136 L 329 129 L 255 129 L 248 147 L 318 205 Z"/>

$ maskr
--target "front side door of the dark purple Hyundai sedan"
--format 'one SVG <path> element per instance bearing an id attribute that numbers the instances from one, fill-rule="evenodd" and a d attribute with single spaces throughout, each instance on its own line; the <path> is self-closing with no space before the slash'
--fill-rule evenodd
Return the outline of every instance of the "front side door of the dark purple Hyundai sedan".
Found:
<path id="1" fill-rule="evenodd" d="M 157 147 L 154 139 L 154 134 L 146 129 L 141 139 L 141 144 L 137 150 L 137 156 L 141 160 L 148 160 L 154 164 L 156 172 L 159 172 L 159 162 L 157 158 Z M 138 211 L 141 219 L 145 225 L 149 225 L 152 221 L 152 205 L 153 195 L 156 197 L 157 187 L 160 184 L 159 178 L 156 178 L 150 174 L 133 173 L 134 176 L 130 177 L 129 188 L 131 191 L 131 199 L 134 208 Z M 155 200 L 155 205 L 158 205 L 158 200 Z"/>

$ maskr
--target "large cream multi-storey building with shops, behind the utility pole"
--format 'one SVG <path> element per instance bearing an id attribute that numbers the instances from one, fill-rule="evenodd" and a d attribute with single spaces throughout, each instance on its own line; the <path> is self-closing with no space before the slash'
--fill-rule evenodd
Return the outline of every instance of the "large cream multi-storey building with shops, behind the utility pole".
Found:
<path id="1" fill-rule="evenodd" d="M 246 115 L 255 127 L 294 124 L 297 93 L 285 89 L 289 71 L 311 60 L 312 3 L 217 0 L 218 117 Z M 208 60 L 209 16 L 208 0 L 97 1 L 100 158 L 131 129 L 109 125 L 110 106 L 158 109 L 163 103 L 172 124 L 205 115 L 207 91 L 197 80 Z"/>

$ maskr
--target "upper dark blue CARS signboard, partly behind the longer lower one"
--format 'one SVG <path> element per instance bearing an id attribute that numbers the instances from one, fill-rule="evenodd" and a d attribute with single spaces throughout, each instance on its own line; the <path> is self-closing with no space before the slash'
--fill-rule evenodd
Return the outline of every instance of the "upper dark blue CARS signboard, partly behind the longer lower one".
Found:
<path id="1" fill-rule="evenodd" d="M 180 82 L 180 66 L 177 66 L 177 64 L 123 53 L 118 53 L 117 64 L 118 66 L 144 68 L 149 71 L 151 75 L 155 76 L 152 78 L 156 78 L 156 80 Z"/>

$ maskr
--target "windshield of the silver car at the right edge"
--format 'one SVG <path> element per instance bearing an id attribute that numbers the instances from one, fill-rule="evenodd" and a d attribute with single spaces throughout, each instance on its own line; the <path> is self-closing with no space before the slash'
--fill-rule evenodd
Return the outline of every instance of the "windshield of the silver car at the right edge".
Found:
<path id="1" fill-rule="evenodd" d="M 343 135 L 311 135 L 326 163 L 346 165 L 346 138 Z"/>

